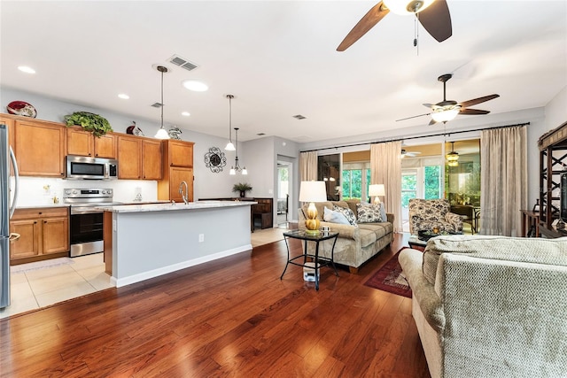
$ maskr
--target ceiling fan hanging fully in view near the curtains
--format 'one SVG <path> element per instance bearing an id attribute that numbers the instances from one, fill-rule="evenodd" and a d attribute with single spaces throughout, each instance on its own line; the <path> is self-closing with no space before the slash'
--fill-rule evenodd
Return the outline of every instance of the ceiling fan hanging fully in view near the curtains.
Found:
<path id="1" fill-rule="evenodd" d="M 410 120 L 416 117 L 422 117 L 424 115 L 431 115 L 430 125 L 434 125 L 438 122 L 447 122 L 449 120 L 454 120 L 454 117 L 457 114 L 462 115 L 479 115 L 479 114 L 488 114 L 490 111 L 483 111 L 480 109 L 470 109 L 469 106 L 484 103 L 485 101 L 493 100 L 496 97 L 500 97 L 500 95 L 489 95 L 489 96 L 482 96 L 478 98 L 474 98 L 469 101 L 463 101 L 462 103 L 457 103 L 454 100 L 447 100 L 447 81 L 453 77 L 452 73 L 445 73 L 437 78 L 438 81 L 443 82 L 443 101 L 437 104 L 423 104 L 423 106 L 427 106 L 431 109 L 432 112 L 428 112 L 425 114 L 415 115 L 413 117 L 402 118 L 401 120 Z M 399 120 L 396 120 L 399 121 Z"/>

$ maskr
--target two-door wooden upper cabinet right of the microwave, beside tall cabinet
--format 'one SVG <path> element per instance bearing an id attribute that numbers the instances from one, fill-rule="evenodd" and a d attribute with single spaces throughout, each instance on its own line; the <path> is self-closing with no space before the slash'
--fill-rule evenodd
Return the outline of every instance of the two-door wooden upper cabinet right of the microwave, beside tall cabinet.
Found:
<path id="1" fill-rule="evenodd" d="M 118 178 L 161 179 L 161 141 L 136 135 L 118 135 Z"/>

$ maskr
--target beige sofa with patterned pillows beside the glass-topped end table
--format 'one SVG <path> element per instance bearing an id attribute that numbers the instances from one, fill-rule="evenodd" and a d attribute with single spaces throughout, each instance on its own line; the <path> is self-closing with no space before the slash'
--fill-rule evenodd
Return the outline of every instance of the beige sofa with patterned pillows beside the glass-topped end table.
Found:
<path id="1" fill-rule="evenodd" d="M 377 255 L 384 247 L 392 243 L 393 240 L 393 214 L 385 214 L 386 220 L 380 222 L 357 223 L 357 226 L 350 224 L 338 224 L 323 220 L 324 208 L 332 210 L 333 205 L 344 209 L 351 209 L 354 216 L 358 219 L 358 206 L 360 201 L 327 201 L 315 203 L 317 208 L 317 219 L 321 221 L 322 227 L 329 227 L 330 231 L 338 232 L 337 243 L 334 250 L 334 261 L 337 264 L 348 266 L 353 274 L 358 273 L 362 264 Z M 307 214 L 307 204 L 299 208 L 299 229 L 306 229 L 305 219 Z M 330 258 L 332 240 L 324 241 L 320 244 L 319 255 Z M 315 253 L 315 243 L 307 243 L 307 252 Z"/>

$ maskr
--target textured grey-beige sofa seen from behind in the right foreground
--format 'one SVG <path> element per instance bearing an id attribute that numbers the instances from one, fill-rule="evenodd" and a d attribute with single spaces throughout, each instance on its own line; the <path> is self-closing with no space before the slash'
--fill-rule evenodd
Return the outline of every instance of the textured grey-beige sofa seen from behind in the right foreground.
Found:
<path id="1" fill-rule="evenodd" d="M 399 261 L 431 377 L 567 377 L 567 237 L 437 236 Z"/>

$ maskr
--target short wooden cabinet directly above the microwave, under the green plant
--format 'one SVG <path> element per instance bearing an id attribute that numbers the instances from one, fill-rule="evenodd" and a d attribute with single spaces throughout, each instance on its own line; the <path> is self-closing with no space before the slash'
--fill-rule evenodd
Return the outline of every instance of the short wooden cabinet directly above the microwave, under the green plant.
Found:
<path id="1" fill-rule="evenodd" d="M 67 155 L 116 158 L 116 136 L 113 134 L 96 137 L 82 127 L 67 127 L 66 135 Z"/>

